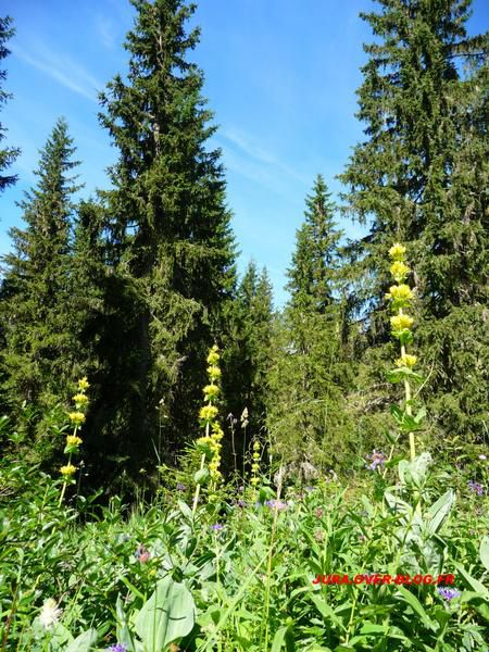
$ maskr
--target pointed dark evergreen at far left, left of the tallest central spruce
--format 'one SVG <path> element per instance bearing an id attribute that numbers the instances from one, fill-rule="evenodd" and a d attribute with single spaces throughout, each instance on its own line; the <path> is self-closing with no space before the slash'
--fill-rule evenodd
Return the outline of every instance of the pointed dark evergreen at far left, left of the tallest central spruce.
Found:
<path id="1" fill-rule="evenodd" d="M 20 203 L 25 228 L 10 231 L 13 251 L 3 256 L 1 318 L 4 390 L 11 406 L 60 398 L 70 377 L 68 279 L 75 147 L 60 118 L 35 172 L 38 183 Z M 65 389 L 66 391 L 66 389 Z"/>

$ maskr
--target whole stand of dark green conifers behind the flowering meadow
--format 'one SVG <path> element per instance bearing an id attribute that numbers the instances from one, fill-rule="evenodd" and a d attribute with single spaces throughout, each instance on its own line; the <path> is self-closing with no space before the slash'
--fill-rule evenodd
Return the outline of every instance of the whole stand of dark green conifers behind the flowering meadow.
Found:
<path id="1" fill-rule="evenodd" d="M 0 413 L 2 431 L 15 430 L 2 454 L 58 466 L 65 408 L 87 376 L 87 482 L 147 480 L 199 436 L 217 343 L 222 413 L 240 457 L 248 432 L 274 459 L 353 473 L 365 451 L 388 446 L 386 406 L 400 399 L 386 379 L 396 241 L 408 247 L 416 297 L 423 448 L 463 463 L 487 447 L 489 39 L 466 34 L 471 1 L 377 0 L 361 15 L 374 35 L 358 90 L 364 139 L 338 171 L 339 201 L 321 174 L 311 179 L 280 311 L 266 269 L 236 271 L 225 171 L 208 145 L 213 114 L 188 60 L 196 8 L 131 2 L 127 68 L 100 93 L 100 126 L 118 151 L 111 187 L 75 200 L 76 143 L 60 117 L 2 260 Z M 1 18 L 0 108 L 13 34 Z M 17 155 L 0 124 L 0 193 L 16 181 Z M 351 218 L 365 237 L 344 239 Z"/>

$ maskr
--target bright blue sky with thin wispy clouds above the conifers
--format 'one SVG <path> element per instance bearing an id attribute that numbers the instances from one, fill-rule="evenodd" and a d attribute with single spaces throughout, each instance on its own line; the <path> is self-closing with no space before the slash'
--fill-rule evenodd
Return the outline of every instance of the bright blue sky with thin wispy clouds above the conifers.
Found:
<path id="1" fill-rule="evenodd" d="M 276 304 L 286 299 L 285 271 L 304 198 L 317 173 L 334 195 L 351 148 L 362 138 L 355 89 L 371 39 L 359 17 L 371 0 L 201 0 L 202 28 L 192 53 L 205 74 L 204 95 L 223 150 L 233 227 L 241 251 L 268 268 Z M 488 28 L 489 2 L 474 0 L 471 33 Z M 131 26 L 126 0 L 3 0 L 15 21 L 7 89 L 14 93 L 0 120 L 9 143 L 22 148 L 17 185 L 0 198 L 0 253 L 7 231 L 21 224 L 15 202 L 34 183 L 38 150 L 64 115 L 78 148 L 82 196 L 108 185 L 116 158 L 97 120 L 97 91 L 126 71 L 122 48 Z M 359 227 L 341 224 L 348 236 Z"/>

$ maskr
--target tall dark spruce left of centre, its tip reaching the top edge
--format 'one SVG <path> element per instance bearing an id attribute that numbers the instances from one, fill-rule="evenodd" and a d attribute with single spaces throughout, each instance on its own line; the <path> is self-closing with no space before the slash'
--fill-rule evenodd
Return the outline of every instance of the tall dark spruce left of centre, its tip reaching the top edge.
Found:
<path id="1" fill-rule="evenodd" d="M 121 151 L 109 195 L 117 269 L 139 297 L 137 364 L 123 399 L 137 459 L 152 451 L 159 404 L 167 451 L 197 427 L 205 351 L 233 289 L 234 247 L 220 152 L 206 149 L 214 127 L 202 73 L 187 61 L 199 38 L 186 30 L 195 5 L 131 2 L 127 80 L 117 75 L 108 85 L 101 122 Z"/>

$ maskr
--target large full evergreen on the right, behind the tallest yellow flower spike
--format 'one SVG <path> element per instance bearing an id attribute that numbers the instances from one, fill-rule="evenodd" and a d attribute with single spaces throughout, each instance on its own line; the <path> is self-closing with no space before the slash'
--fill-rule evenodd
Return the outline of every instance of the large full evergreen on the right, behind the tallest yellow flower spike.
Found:
<path id="1" fill-rule="evenodd" d="M 480 339 L 488 268 L 487 83 L 480 84 L 487 82 L 487 36 L 467 37 L 471 0 L 377 4 L 379 11 L 362 14 L 377 37 L 365 46 L 369 58 L 359 90 L 366 139 L 340 177 L 349 188 L 347 210 L 369 225 L 352 249 L 356 309 L 366 317 L 366 343 L 374 352 L 389 339 L 386 252 L 396 240 L 406 243 L 421 359 L 431 368 L 425 391 L 440 424 L 453 426 L 452 409 L 465 412 L 468 418 L 457 429 L 469 436 L 480 428 L 475 403 L 482 399 L 487 368 Z M 471 389 L 467 377 L 474 378 Z M 448 403 L 437 409 L 436 398 L 443 396 Z"/>

